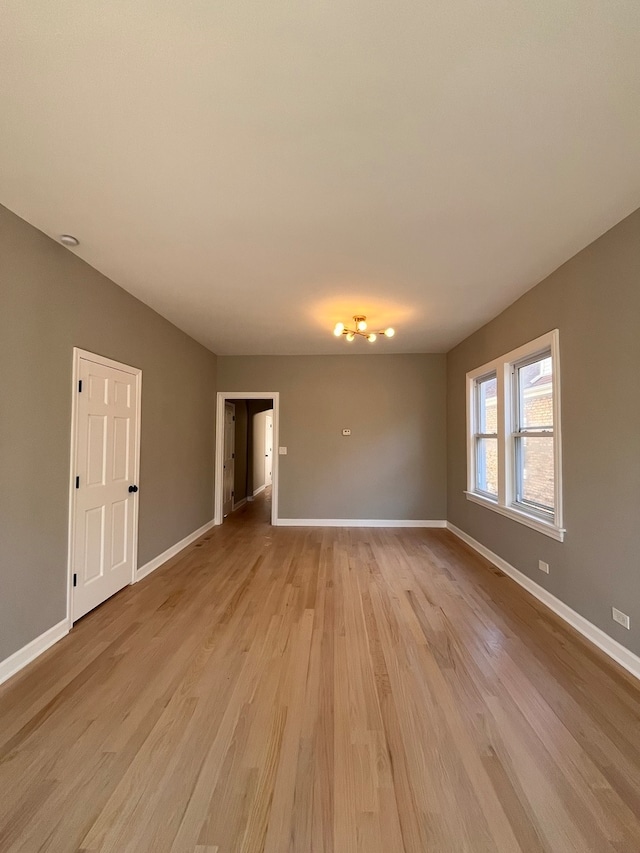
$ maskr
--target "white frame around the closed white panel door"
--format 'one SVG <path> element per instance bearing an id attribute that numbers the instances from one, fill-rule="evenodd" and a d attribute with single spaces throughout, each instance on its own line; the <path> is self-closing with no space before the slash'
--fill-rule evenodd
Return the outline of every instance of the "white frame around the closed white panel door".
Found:
<path id="1" fill-rule="evenodd" d="M 75 521 L 76 521 L 76 454 L 78 450 L 78 382 L 80 378 L 80 360 L 93 361 L 96 364 L 101 364 L 104 367 L 113 367 L 116 370 L 122 370 L 124 373 L 130 373 L 135 377 L 135 404 L 138 417 L 136 419 L 135 444 L 138 449 L 136 458 L 133 464 L 134 479 L 137 483 L 140 482 L 140 424 L 142 421 L 142 370 L 139 367 L 131 367 L 129 364 L 114 361 L 112 358 L 107 358 L 103 355 L 98 355 L 95 352 L 73 348 L 73 370 L 71 383 L 71 452 L 69 454 L 69 523 L 68 523 L 68 542 L 67 542 L 67 624 L 69 630 L 73 627 L 73 563 L 74 563 L 74 543 L 75 543 Z M 131 568 L 131 583 L 136 582 L 136 573 L 138 571 L 138 507 L 140 498 L 134 501 L 133 505 L 133 564 Z"/>

